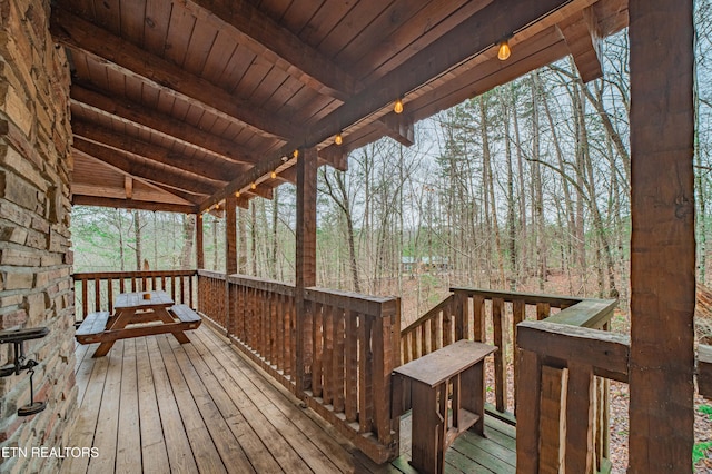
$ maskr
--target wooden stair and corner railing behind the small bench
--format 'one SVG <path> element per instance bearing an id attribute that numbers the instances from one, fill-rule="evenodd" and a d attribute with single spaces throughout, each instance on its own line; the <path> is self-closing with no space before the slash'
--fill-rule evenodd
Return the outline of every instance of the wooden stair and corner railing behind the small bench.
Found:
<path id="1" fill-rule="evenodd" d="M 516 424 L 514 413 L 520 409 L 521 382 L 517 332 L 521 323 L 528 320 L 546 320 L 548 323 L 580 326 L 584 328 L 606 329 L 616 306 L 615 300 L 582 299 L 527 293 L 482 290 L 473 288 L 452 288 L 452 294 L 427 312 L 424 316 L 400 332 L 400 358 L 403 363 L 422 357 L 441 347 L 459 339 L 474 339 L 493 344 L 498 350 L 493 356 L 494 407 L 487 412 L 501 419 Z M 561 368 L 544 369 L 545 384 L 548 389 L 541 395 L 547 406 L 558 406 L 562 389 L 565 389 L 565 377 Z M 512 383 L 514 396 L 508 397 L 508 382 Z M 525 392 L 530 392 L 526 386 Z M 508 399 L 514 399 L 514 405 Z M 607 382 L 596 379 L 593 408 L 597 418 L 593 426 L 595 440 L 595 465 L 606 466 L 609 457 L 609 386 Z M 528 413 L 528 408 L 527 408 Z M 558 458 L 560 418 L 563 412 L 546 412 L 551 419 L 544 419 L 543 426 L 552 431 L 543 438 L 540 446 L 541 458 Z M 561 416 L 560 416 L 561 415 Z M 518 426 L 517 426 L 518 431 Z M 517 435 L 518 436 L 518 435 Z M 574 472 L 574 471 L 572 471 Z"/>

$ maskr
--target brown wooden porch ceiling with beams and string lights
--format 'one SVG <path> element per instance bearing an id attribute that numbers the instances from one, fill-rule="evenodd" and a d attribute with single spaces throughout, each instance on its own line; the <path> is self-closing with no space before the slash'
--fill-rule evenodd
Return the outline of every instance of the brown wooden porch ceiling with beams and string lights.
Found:
<path id="1" fill-rule="evenodd" d="M 239 191 L 246 206 L 294 181 L 295 149 L 346 169 L 566 55 L 600 77 L 600 39 L 626 24 L 626 0 L 58 0 L 73 204 L 195 213 Z"/>

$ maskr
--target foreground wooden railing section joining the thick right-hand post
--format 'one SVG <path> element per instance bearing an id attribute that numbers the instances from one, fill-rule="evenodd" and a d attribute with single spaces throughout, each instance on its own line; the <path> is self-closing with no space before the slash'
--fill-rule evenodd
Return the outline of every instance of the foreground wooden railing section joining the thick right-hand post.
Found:
<path id="1" fill-rule="evenodd" d="M 546 320 L 520 324 L 516 340 L 517 473 L 610 472 L 607 384 L 627 383 L 629 338 Z"/>

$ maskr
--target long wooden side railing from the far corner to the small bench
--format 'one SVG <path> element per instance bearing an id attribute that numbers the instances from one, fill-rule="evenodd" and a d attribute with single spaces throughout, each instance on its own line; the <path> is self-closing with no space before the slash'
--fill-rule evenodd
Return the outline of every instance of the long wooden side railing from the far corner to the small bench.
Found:
<path id="1" fill-rule="evenodd" d="M 248 357 L 374 461 L 397 453 L 390 372 L 398 365 L 398 298 L 306 288 L 307 315 L 297 322 L 293 285 L 204 270 L 198 282 L 199 310 Z M 299 352 L 303 371 L 296 366 Z M 297 393 L 299 373 L 303 393 Z"/>

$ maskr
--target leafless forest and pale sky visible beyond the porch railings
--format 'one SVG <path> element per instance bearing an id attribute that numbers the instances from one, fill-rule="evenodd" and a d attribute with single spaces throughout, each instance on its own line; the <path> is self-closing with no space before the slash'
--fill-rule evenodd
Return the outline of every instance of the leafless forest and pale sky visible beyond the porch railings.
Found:
<path id="1" fill-rule="evenodd" d="M 696 2 L 698 277 L 709 273 L 712 194 L 712 16 Z M 630 264 L 629 55 L 603 48 L 602 79 L 571 58 L 416 125 L 415 145 L 385 138 L 346 172 L 318 172 L 319 286 L 399 295 L 404 320 L 451 286 L 617 297 Z M 407 111 L 407 103 L 406 103 Z M 294 280 L 295 189 L 238 210 L 238 267 Z M 206 268 L 225 270 L 224 216 L 205 214 Z M 75 271 L 195 268 L 195 216 L 72 211 Z"/>

